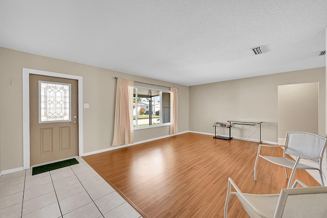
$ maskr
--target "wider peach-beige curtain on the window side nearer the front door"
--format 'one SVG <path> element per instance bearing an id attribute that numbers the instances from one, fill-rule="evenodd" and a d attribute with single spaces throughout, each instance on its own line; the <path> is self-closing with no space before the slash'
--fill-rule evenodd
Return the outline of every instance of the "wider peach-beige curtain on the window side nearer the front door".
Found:
<path id="1" fill-rule="evenodd" d="M 133 85 L 134 81 L 117 79 L 112 146 L 133 143 Z"/>

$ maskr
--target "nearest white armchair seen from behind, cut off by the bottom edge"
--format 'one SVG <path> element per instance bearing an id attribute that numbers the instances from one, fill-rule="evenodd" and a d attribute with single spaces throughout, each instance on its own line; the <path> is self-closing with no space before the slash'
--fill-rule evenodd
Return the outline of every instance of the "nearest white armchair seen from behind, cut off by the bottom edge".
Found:
<path id="1" fill-rule="evenodd" d="M 295 188 L 301 184 L 303 188 Z M 230 191 L 231 185 L 236 192 Z M 279 194 L 253 195 L 242 193 L 228 178 L 224 218 L 230 195 L 235 195 L 250 217 L 326 217 L 327 187 L 308 187 L 296 180 L 292 188 L 284 188 Z"/>

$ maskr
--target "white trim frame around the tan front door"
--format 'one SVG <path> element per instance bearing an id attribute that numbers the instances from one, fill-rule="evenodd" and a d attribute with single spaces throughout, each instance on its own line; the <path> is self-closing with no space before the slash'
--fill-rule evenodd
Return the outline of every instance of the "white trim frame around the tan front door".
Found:
<path id="1" fill-rule="evenodd" d="M 78 156 L 83 156 L 83 77 L 59 74 L 37 69 L 22 68 L 22 128 L 24 169 L 30 162 L 30 74 L 78 80 Z"/>

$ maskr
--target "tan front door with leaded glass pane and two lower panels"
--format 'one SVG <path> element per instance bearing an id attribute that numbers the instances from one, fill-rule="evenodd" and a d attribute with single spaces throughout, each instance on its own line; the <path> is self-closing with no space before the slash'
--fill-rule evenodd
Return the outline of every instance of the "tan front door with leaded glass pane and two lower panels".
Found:
<path id="1" fill-rule="evenodd" d="M 78 81 L 30 75 L 31 165 L 78 156 Z"/>

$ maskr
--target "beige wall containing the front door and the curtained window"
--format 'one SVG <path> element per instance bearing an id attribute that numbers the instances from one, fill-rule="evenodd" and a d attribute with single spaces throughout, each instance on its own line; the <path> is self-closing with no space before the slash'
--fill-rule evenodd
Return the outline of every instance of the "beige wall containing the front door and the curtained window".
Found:
<path id="1" fill-rule="evenodd" d="M 178 87 L 178 131 L 189 130 L 188 86 L 0 47 L 0 171 L 23 166 L 22 68 L 83 77 L 83 103 L 89 104 L 89 108 L 83 110 L 84 153 L 111 147 L 116 90 L 114 77 Z M 11 85 L 12 78 L 14 80 L 13 85 Z M 169 127 L 137 130 L 134 132 L 134 141 L 165 135 L 169 135 Z"/>

